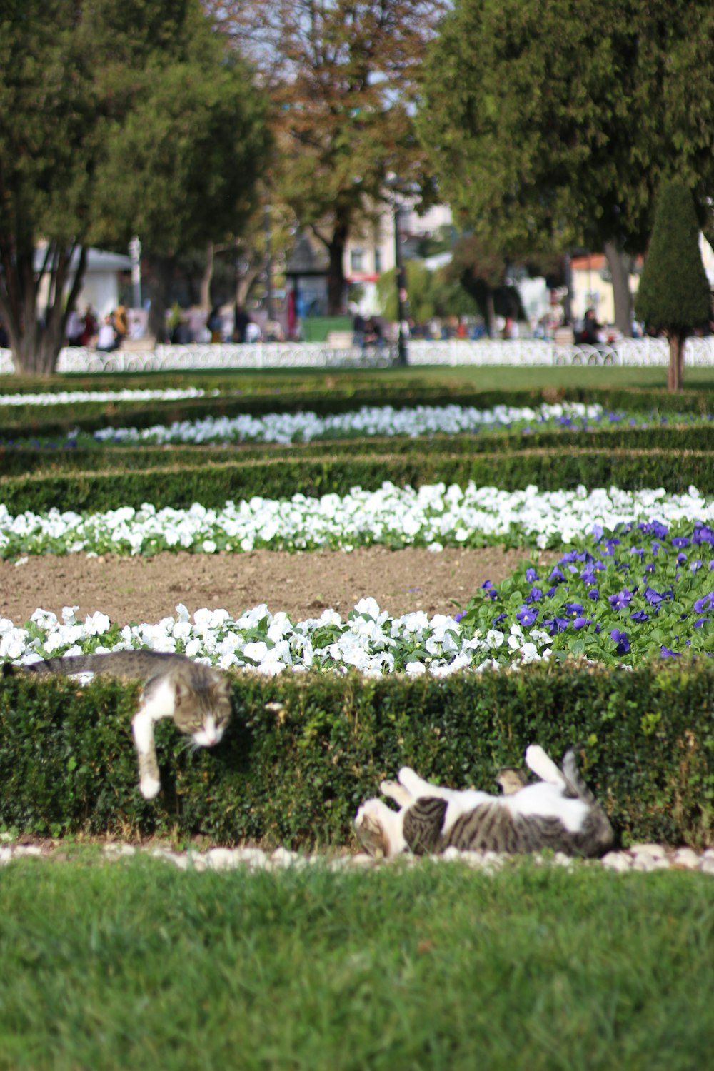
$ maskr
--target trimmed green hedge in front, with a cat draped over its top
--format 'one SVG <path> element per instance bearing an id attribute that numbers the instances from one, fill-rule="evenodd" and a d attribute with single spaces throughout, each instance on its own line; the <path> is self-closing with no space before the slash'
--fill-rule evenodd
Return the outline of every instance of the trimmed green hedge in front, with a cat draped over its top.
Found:
<path id="1" fill-rule="evenodd" d="M 583 774 L 624 844 L 714 836 L 714 666 L 632 673 L 532 665 L 443 681 L 358 675 L 233 677 L 234 719 L 213 751 L 156 730 L 162 793 L 137 787 L 138 685 L 10 678 L 0 690 L 0 824 L 34 833 L 158 833 L 265 847 L 346 843 L 359 804 L 401 765 L 496 790 L 537 741 Z"/>

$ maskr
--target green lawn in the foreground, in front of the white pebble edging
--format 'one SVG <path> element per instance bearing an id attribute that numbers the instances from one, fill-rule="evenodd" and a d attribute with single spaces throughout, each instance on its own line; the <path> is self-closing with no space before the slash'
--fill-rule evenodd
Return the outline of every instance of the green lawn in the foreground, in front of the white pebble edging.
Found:
<path id="1" fill-rule="evenodd" d="M 514 863 L 0 872 L 0 1067 L 701 1069 L 714 879 Z"/>

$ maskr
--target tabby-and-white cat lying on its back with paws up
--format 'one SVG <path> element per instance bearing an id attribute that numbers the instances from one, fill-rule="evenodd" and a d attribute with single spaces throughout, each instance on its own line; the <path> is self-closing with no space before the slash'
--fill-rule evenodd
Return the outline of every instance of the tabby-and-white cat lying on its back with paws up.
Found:
<path id="1" fill-rule="evenodd" d="M 440 788 L 404 767 L 398 782 L 380 786 L 399 810 L 367 800 L 354 819 L 356 834 L 370 855 L 381 851 L 388 859 L 400 851 L 421 855 L 451 846 L 507 853 L 552 848 L 579 856 L 607 851 L 612 827 L 580 776 L 575 752 L 566 753 L 559 770 L 543 748 L 531 744 L 526 765 L 541 781 L 523 784 L 517 771 L 503 771 L 503 796 Z"/>

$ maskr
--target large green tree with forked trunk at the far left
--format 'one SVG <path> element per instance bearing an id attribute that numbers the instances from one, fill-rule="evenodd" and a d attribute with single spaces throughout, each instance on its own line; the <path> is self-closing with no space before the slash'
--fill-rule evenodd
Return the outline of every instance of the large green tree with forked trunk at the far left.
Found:
<path id="1" fill-rule="evenodd" d="M 0 34 L 0 316 L 17 369 L 48 374 L 88 245 L 136 231 L 170 259 L 249 210 L 262 105 L 199 0 L 11 0 Z"/>

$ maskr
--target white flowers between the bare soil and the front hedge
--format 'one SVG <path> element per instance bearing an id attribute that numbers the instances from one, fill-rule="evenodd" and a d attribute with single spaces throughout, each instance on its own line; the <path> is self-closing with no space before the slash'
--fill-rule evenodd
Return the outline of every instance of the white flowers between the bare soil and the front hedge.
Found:
<path id="1" fill-rule="evenodd" d="M 437 614 L 430 620 L 423 610 L 390 618 L 374 599 L 362 599 L 344 621 L 334 610 L 293 624 L 284 613 L 271 614 L 264 604 L 247 610 L 238 620 L 225 609 L 199 609 L 192 621 L 185 606 L 176 617 L 157 624 L 112 628 L 106 614 L 85 621 L 75 618 L 76 606 L 65 606 L 60 622 L 55 614 L 37 609 L 31 628 L 19 628 L 0 618 L 0 658 L 33 662 L 58 653 L 79 654 L 149 648 L 182 651 L 191 658 L 219 666 L 247 667 L 267 675 L 283 669 L 359 669 L 368 676 L 404 670 L 445 676 L 470 666 L 495 665 L 492 653 L 503 647 L 514 665 L 547 658 L 550 637 L 532 630 L 528 639 L 520 625 L 506 635 L 497 629 L 462 634 L 452 617 Z M 503 652 L 501 652 L 501 663 Z"/>

